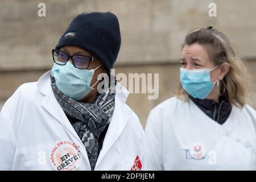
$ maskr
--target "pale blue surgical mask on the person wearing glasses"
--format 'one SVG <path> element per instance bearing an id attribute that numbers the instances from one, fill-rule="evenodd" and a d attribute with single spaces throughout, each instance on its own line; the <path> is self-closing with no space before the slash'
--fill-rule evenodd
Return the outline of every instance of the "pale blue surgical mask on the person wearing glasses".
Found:
<path id="1" fill-rule="evenodd" d="M 99 65 L 97 68 L 99 68 Z M 69 61 L 65 65 L 54 64 L 52 67 L 51 75 L 55 78 L 57 88 L 66 96 L 79 101 L 84 98 L 93 86 L 90 87 L 90 82 L 94 71 L 97 69 L 77 69 Z"/>

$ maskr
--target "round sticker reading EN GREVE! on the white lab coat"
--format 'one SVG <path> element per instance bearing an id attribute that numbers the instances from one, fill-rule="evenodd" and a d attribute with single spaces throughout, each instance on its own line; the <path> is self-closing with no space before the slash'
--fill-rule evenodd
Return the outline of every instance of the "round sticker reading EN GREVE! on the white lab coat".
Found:
<path id="1" fill-rule="evenodd" d="M 63 140 L 52 148 L 50 160 L 56 171 L 74 171 L 81 166 L 82 155 L 74 142 Z"/>

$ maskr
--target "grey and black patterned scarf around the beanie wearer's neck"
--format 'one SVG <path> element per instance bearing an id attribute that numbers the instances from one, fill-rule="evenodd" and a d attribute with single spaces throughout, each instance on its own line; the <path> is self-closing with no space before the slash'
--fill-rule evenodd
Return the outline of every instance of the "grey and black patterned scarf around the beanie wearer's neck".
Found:
<path id="1" fill-rule="evenodd" d="M 98 138 L 106 126 L 109 125 L 114 112 L 115 93 L 110 93 L 113 88 L 105 89 L 105 92 L 98 94 L 96 100 L 90 104 L 78 102 L 65 96 L 57 88 L 55 78 L 52 76 L 51 86 L 57 102 L 59 102 L 77 135 L 84 143 L 90 166 L 94 170 L 100 147 Z"/>

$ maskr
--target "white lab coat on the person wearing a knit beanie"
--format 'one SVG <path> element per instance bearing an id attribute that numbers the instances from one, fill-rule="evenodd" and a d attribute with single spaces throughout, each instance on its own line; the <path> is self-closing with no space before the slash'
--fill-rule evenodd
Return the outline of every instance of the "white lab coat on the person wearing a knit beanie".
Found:
<path id="1" fill-rule="evenodd" d="M 0 113 L 0 169 L 53 170 L 50 154 L 57 142 L 79 146 L 77 170 L 91 170 L 84 144 L 61 109 L 51 88 L 50 71 L 38 82 L 19 86 Z M 115 94 L 115 109 L 95 170 L 130 170 L 144 155 L 144 131 L 137 115 L 125 104 L 128 91 Z M 143 162 L 142 162 L 143 163 Z"/>

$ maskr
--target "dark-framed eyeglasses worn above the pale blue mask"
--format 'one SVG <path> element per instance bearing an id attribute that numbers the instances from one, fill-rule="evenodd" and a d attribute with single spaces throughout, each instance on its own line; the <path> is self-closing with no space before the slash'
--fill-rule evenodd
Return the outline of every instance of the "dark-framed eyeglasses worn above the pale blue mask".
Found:
<path id="1" fill-rule="evenodd" d="M 85 55 L 69 55 L 58 49 L 52 49 L 52 58 L 54 63 L 59 65 L 65 65 L 69 59 L 72 60 L 74 67 L 78 69 L 87 69 L 90 62 L 96 60 L 96 57 L 89 57 Z"/>

